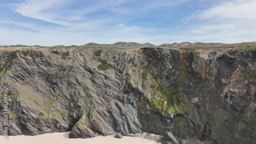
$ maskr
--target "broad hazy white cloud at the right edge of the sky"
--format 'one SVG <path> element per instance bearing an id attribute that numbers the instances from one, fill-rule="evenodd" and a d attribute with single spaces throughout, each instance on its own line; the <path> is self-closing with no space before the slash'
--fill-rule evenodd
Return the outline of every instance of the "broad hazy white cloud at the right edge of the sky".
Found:
<path id="1" fill-rule="evenodd" d="M 255 6 L 256 2 L 251 0 L 222 2 L 202 11 L 195 19 L 201 23 L 187 26 L 185 33 L 208 42 L 237 43 L 255 39 Z"/>

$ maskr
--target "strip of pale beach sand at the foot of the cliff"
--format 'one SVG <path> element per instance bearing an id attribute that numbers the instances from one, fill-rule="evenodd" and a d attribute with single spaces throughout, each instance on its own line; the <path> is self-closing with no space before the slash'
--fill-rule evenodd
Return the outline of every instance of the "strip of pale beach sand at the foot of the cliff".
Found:
<path id="1" fill-rule="evenodd" d="M 124 136 L 121 139 L 114 138 L 113 136 L 97 136 L 95 138 L 89 139 L 69 139 L 69 133 L 50 133 L 42 134 L 37 136 L 9 136 L 9 140 L 5 140 L 4 136 L 0 136 L 1 144 L 136 144 L 136 143 L 145 143 L 145 144 L 155 144 L 157 142 L 143 139 L 140 137 L 127 137 Z"/>

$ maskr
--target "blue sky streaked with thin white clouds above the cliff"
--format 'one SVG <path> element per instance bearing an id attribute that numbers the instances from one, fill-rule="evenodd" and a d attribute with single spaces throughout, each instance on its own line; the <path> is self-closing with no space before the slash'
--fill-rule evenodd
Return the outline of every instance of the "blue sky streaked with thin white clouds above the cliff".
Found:
<path id="1" fill-rule="evenodd" d="M 2 0 L 0 45 L 256 41 L 254 0 Z"/>

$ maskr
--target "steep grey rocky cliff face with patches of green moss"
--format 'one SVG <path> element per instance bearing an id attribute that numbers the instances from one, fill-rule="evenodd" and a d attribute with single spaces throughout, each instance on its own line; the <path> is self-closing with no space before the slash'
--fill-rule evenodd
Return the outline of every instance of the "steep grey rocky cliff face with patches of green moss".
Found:
<path id="1" fill-rule="evenodd" d="M 10 135 L 256 142 L 255 49 L 6 49 L 0 71 Z"/>

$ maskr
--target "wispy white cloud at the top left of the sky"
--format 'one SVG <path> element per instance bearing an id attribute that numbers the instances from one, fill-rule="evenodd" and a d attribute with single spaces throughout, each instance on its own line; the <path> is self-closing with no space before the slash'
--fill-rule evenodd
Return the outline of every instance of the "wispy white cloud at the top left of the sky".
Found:
<path id="1" fill-rule="evenodd" d="M 61 26 L 73 26 L 73 21 L 84 21 L 84 15 L 110 7 L 108 3 L 98 2 L 97 5 L 77 10 L 65 8 L 74 3 L 71 0 L 26 0 L 25 2 L 12 3 L 9 6 L 14 12 L 24 17 L 35 18 Z"/>

